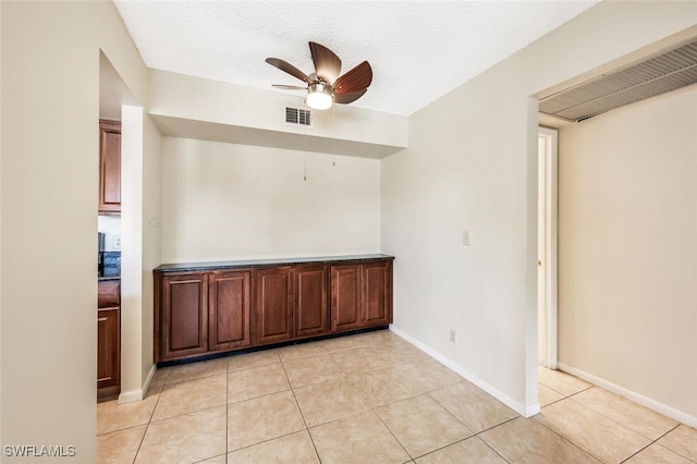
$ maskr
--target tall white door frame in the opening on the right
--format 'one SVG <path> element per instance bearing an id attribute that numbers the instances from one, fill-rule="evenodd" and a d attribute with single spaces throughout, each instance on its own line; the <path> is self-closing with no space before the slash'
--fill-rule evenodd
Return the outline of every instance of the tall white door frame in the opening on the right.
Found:
<path id="1" fill-rule="evenodd" d="M 538 364 L 557 369 L 558 132 L 538 131 Z"/>

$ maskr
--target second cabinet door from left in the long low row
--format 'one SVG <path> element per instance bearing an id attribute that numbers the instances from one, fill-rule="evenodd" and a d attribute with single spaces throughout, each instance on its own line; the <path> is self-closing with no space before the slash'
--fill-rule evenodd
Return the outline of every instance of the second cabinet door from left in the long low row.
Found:
<path id="1" fill-rule="evenodd" d="M 213 272 L 208 280 L 208 347 L 248 346 L 252 271 Z"/>

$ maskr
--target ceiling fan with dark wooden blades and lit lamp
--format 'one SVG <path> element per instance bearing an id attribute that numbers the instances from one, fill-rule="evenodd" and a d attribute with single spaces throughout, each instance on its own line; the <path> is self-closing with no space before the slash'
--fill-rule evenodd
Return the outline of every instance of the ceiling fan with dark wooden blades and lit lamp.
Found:
<path id="1" fill-rule="evenodd" d="M 305 87 L 274 84 L 273 87 L 307 90 L 307 106 L 316 110 L 331 108 L 332 102 L 351 103 L 368 90 L 372 82 L 372 69 L 367 61 L 339 76 L 341 60 L 333 51 L 314 41 L 309 42 L 309 51 L 315 63 L 315 72 L 309 75 L 279 58 L 267 58 L 267 63 L 307 84 Z"/>

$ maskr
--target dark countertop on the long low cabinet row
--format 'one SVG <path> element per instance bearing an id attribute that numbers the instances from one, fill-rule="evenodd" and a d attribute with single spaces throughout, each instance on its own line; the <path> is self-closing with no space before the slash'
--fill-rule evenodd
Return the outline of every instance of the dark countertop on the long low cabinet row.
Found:
<path id="1" fill-rule="evenodd" d="M 179 262 L 160 265 L 154 269 L 155 272 L 183 272 L 183 271 L 207 271 L 228 268 L 257 268 L 279 265 L 320 265 L 328 262 L 344 261 L 370 261 L 394 259 L 394 256 L 374 255 L 345 255 L 345 256 L 319 256 L 311 258 L 273 258 L 273 259 L 243 259 L 232 261 L 208 261 L 208 262 Z"/>

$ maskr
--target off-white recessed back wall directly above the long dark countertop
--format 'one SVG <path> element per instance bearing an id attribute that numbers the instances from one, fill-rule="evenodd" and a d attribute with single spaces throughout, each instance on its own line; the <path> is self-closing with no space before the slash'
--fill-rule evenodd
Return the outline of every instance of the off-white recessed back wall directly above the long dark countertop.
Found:
<path id="1" fill-rule="evenodd" d="M 380 253 L 380 162 L 164 137 L 162 261 Z M 332 162 L 335 161 L 335 166 Z"/>

